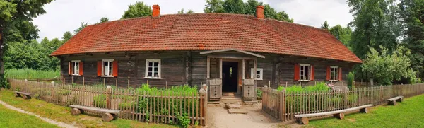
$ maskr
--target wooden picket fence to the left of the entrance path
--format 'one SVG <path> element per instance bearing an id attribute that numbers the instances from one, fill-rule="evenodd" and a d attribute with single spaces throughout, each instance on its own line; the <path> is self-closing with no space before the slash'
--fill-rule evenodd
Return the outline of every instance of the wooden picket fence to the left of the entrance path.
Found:
<path id="1" fill-rule="evenodd" d="M 31 93 L 33 98 L 56 105 L 83 105 L 120 110 L 119 118 L 140 122 L 176 124 L 179 116 L 188 116 L 192 125 L 206 124 L 207 88 L 202 88 L 199 93 L 163 90 L 148 92 L 15 79 L 8 81 L 12 91 Z M 98 112 L 88 113 L 101 115 Z"/>

